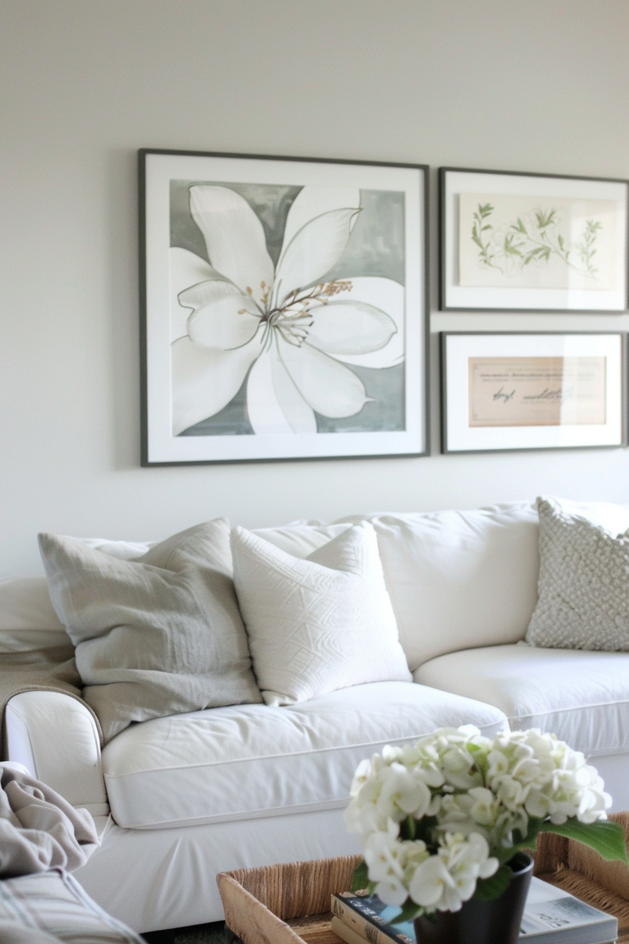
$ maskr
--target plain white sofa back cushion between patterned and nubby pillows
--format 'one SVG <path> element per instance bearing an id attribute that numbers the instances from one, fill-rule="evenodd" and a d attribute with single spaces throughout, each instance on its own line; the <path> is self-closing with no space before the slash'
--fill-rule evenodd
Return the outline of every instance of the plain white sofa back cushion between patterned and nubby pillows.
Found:
<path id="1" fill-rule="evenodd" d="M 411 671 L 445 652 L 523 639 L 537 602 L 534 502 L 369 520 Z"/>

